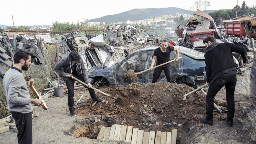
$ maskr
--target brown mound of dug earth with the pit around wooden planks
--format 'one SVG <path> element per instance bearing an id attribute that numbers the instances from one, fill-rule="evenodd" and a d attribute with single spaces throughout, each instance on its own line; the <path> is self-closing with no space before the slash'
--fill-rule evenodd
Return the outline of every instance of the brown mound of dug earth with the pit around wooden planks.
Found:
<path id="1" fill-rule="evenodd" d="M 183 84 L 132 83 L 101 90 L 122 98 L 126 105 L 120 106 L 112 98 L 97 93 L 98 97 L 104 98 L 104 102 L 92 106 L 92 101 L 87 100 L 76 106 L 76 114 L 85 118 L 76 122 L 66 134 L 96 139 L 102 126 L 122 124 L 147 132 L 178 129 L 177 143 L 184 144 L 191 142 L 198 131 L 199 118 L 205 112 L 204 94 L 195 92 L 183 100 L 184 94 L 194 90 Z M 216 116 L 220 118 L 221 114 Z"/>

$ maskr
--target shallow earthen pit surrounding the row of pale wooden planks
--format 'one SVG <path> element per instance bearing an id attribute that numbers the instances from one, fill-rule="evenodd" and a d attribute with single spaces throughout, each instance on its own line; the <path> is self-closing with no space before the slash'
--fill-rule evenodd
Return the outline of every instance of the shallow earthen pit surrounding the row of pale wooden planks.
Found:
<path id="1" fill-rule="evenodd" d="M 177 144 L 181 144 L 184 143 L 186 139 L 188 139 L 188 133 L 189 137 L 192 138 L 196 131 L 196 128 L 190 128 L 190 122 L 186 122 L 186 120 L 183 121 L 183 125 L 178 126 L 178 124 L 172 120 L 158 120 L 157 122 L 155 122 L 154 120 L 147 120 L 147 118 L 142 118 L 141 120 L 134 120 L 130 118 L 121 119 L 114 116 L 94 116 L 91 118 L 77 121 L 76 124 L 72 128 L 70 128 L 67 134 L 76 138 L 87 137 L 90 139 L 96 139 L 102 126 L 111 127 L 112 124 L 122 124 L 133 126 L 133 128 L 139 128 L 140 130 L 144 130 L 147 132 L 171 132 L 172 129 L 178 129 Z"/>

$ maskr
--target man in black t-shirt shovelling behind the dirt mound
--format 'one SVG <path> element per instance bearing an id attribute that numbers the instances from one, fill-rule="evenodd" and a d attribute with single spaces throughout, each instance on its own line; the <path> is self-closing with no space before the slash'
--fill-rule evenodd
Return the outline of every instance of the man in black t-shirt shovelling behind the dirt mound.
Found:
<path id="1" fill-rule="evenodd" d="M 152 70 L 155 62 L 157 66 L 159 64 L 163 64 L 165 62 L 170 61 L 170 53 L 174 50 L 176 51 L 176 54 L 177 54 L 177 58 L 175 58 L 175 60 L 178 61 L 179 49 L 176 46 L 168 46 L 168 41 L 164 39 L 161 43 L 161 46 L 159 48 L 156 48 L 156 50 L 154 51 L 154 56 L 152 59 L 150 70 Z M 164 74 L 166 76 L 167 82 L 171 82 L 170 68 L 171 68 L 170 63 L 155 68 L 153 73 L 152 83 L 157 82 L 162 70 L 164 70 Z"/>

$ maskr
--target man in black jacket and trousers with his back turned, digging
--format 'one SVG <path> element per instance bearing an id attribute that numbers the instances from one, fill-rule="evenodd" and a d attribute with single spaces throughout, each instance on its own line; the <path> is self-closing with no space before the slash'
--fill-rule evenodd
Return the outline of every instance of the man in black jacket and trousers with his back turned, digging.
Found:
<path id="1" fill-rule="evenodd" d="M 234 92 L 236 88 L 236 65 L 232 52 L 241 54 L 243 66 L 246 66 L 247 52 L 245 48 L 231 43 L 217 43 L 214 37 L 205 38 L 203 43 L 206 46 L 204 55 L 206 86 L 210 86 L 206 95 L 206 118 L 200 118 L 200 121 L 204 124 L 213 125 L 214 96 L 225 86 L 228 105 L 226 122 L 231 127 L 235 113 Z"/>

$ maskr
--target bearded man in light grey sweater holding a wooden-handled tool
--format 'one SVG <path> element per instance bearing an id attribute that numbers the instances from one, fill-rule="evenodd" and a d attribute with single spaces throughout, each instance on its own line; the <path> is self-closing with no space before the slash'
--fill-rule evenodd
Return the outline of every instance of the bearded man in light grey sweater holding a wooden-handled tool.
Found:
<path id="1" fill-rule="evenodd" d="M 27 50 L 17 50 L 14 54 L 14 64 L 4 75 L 4 91 L 8 103 L 8 110 L 12 113 L 18 129 L 18 143 L 32 144 L 32 111 L 33 104 L 42 105 L 39 99 L 30 98 L 28 87 L 34 80 L 24 79 L 22 70 L 28 70 L 33 54 Z"/>

